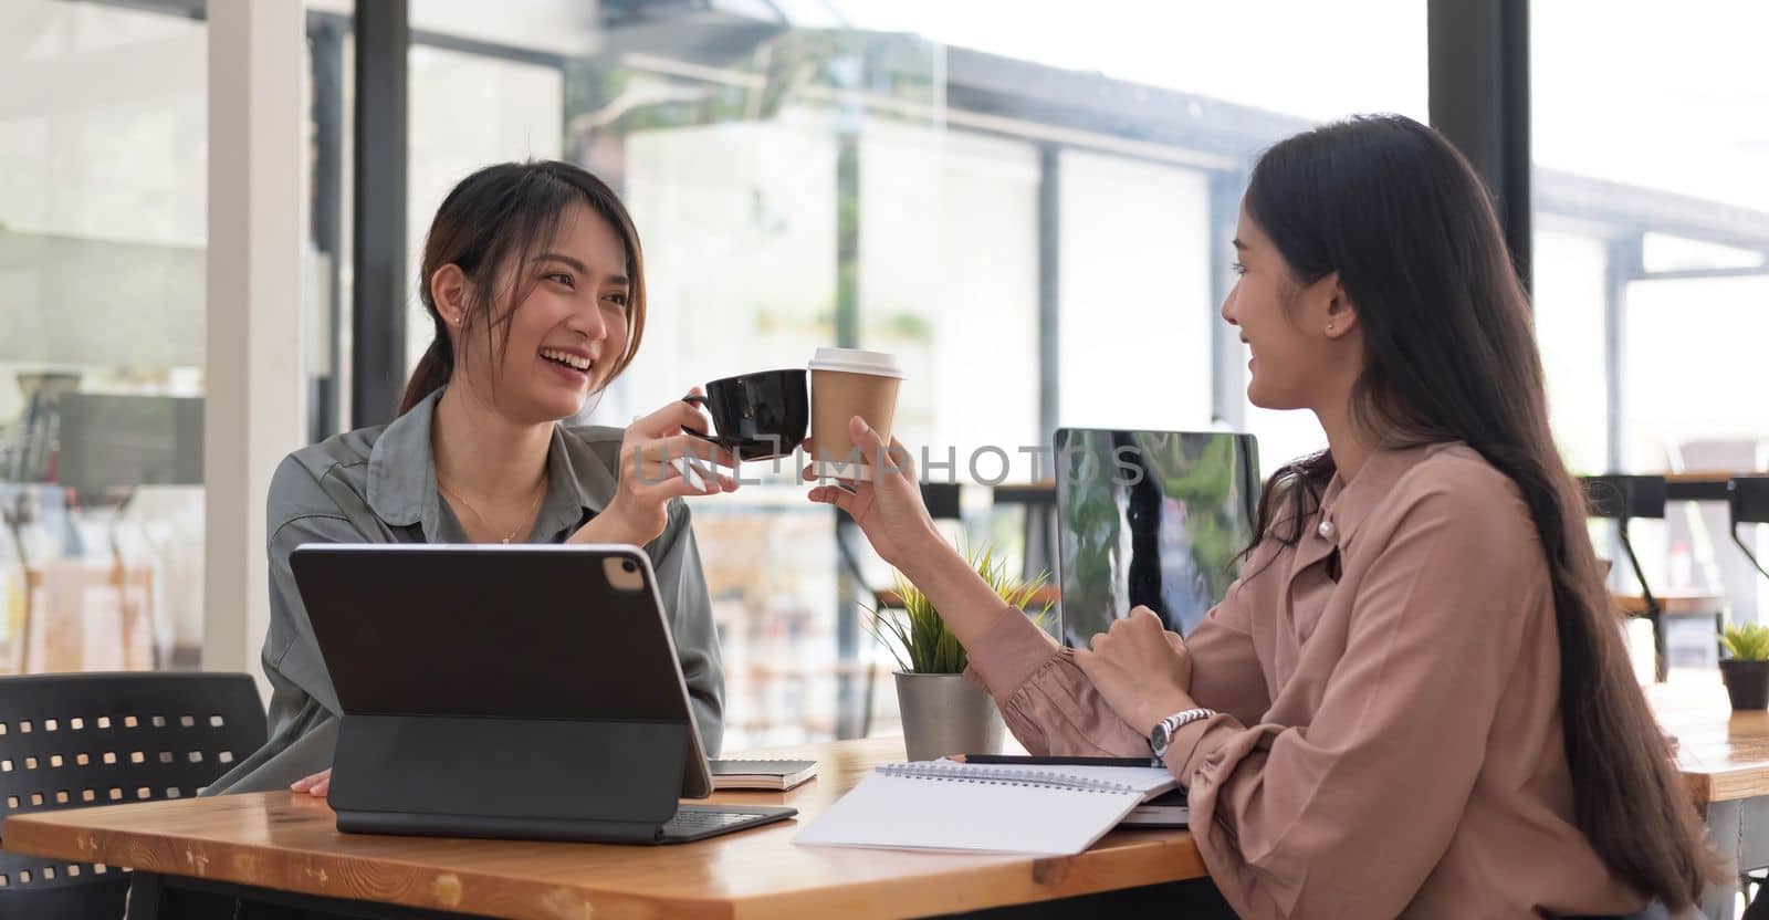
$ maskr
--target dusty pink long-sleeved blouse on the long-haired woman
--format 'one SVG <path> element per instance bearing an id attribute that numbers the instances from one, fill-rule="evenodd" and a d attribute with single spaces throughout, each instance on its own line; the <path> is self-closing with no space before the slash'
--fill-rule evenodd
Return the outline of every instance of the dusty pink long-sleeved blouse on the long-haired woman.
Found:
<path id="1" fill-rule="evenodd" d="M 1548 568 L 1504 474 L 1461 444 L 1371 455 L 1242 571 L 1187 639 L 1221 715 L 1166 757 L 1242 916 L 1645 906 L 1573 823 Z M 1148 754 L 1024 616 L 969 651 L 1028 750 Z"/>

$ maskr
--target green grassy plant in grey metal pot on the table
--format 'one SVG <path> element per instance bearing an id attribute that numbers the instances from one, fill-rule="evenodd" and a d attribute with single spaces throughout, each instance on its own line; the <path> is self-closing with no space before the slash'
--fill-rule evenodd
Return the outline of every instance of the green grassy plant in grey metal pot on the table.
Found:
<path id="1" fill-rule="evenodd" d="M 1047 577 L 1024 582 L 1007 573 L 994 550 L 969 550 L 964 559 L 1008 607 L 1024 609 Z M 900 610 L 872 610 L 872 635 L 897 658 L 897 711 L 911 761 L 946 754 L 992 754 L 1001 748 L 1001 715 L 984 686 L 964 676 L 969 656 L 920 589 L 897 575 Z M 1044 626 L 1051 605 L 1033 612 Z"/>

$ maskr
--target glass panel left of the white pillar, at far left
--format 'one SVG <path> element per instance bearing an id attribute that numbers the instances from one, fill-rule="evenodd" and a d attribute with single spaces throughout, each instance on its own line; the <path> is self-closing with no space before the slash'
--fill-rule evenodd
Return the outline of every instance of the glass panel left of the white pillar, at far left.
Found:
<path id="1" fill-rule="evenodd" d="M 196 667 L 203 23 L 0 5 L 0 672 Z"/>

